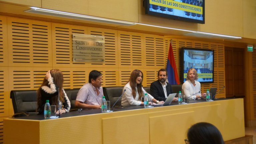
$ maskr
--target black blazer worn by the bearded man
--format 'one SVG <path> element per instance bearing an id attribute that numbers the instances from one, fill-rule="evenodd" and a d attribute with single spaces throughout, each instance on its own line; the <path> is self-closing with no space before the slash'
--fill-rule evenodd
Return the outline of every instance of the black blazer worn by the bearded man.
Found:
<path id="1" fill-rule="evenodd" d="M 167 92 L 167 96 L 172 92 L 172 86 L 170 83 L 166 82 L 167 85 L 166 85 L 166 92 Z M 154 82 L 152 82 L 150 84 L 150 94 L 156 99 L 156 100 L 159 100 L 159 101 L 165 101 L 166 98 L 165 98 L 165 95 L 164 95 L 164 89 L 163 89 L 163 86 L 161 84 L 161 82 L 159 80 L 156 80 Z"/>

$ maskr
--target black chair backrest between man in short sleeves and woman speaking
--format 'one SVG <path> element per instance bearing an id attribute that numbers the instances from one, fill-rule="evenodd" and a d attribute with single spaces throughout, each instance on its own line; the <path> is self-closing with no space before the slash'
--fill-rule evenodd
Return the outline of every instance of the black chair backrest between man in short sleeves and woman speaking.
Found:
<path id="1" fill-rule="evenodd" d="M 110 101 L 110 105 L 113 105 L 117 101 L 117 99 L 121 96 L 122 92 L 122 86 L 103 87 L 103 94 L 106 100 Z M 117 101 L 116 105 L 121 106 L 121 98 Z"/>

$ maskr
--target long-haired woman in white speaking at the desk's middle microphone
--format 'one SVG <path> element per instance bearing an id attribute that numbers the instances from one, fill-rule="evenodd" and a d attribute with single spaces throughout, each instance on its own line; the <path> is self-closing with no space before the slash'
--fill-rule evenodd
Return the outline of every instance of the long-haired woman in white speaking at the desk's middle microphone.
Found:
<path id="1" fill-rule="evenodd" d="M 143 73 L 140 70 L 134 70 L 131 73 L 129 81 L 123 88 L 123 91 L 126 89 L 122 96 L 121 105 L 130 106 L 130 105 L 144 105 L 142 98 L 146 91 L 142 87 Z M 154 103 L 164 103 L 164 101 L 158 101 L 153 96 L 148 94 L 152 102 Z M 151 104 L 151 102 L 149 102 Z"/>

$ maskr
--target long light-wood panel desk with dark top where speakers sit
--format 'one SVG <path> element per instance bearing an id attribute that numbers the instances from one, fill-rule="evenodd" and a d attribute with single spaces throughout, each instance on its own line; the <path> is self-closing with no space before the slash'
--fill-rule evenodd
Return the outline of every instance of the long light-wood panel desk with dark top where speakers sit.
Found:
<path id="1" fill-rule="evenodd" d="M 184 144 L 197 122 L 214 124 L 225 141 L 245 136 L 243 99 L 100 113 L 83 110 L 42 120 L 42 115 L 4 119 L 4 144 Z"/>

